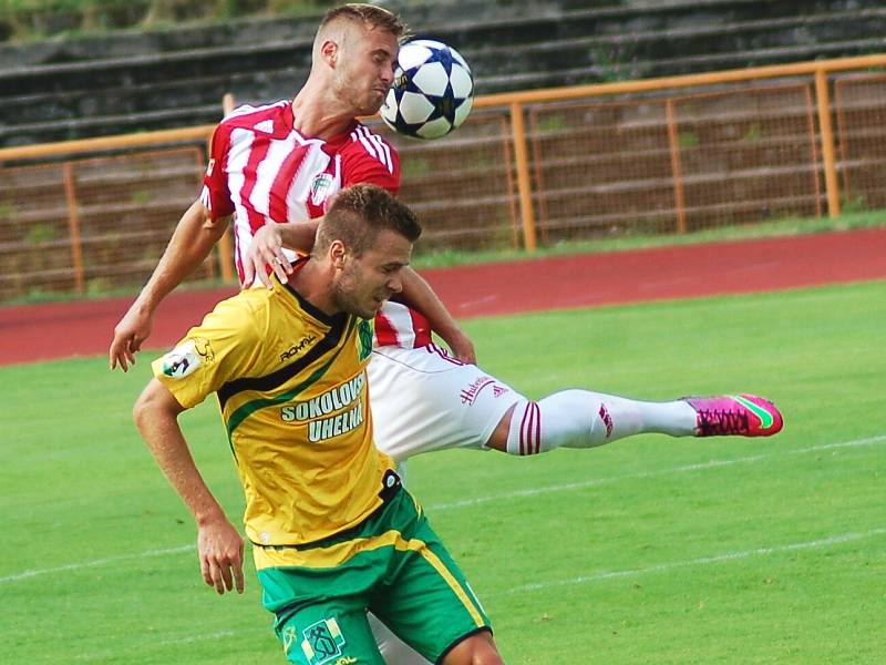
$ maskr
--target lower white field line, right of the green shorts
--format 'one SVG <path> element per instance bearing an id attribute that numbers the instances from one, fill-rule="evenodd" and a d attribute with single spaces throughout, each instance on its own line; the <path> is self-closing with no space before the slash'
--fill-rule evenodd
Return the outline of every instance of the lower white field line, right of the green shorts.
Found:
<path id="1" fill-rule="evenodd" d="M 688 559 L 686 561 L 673 561 L 671 563 L 660 563 L 645 569 L 632 569 L 626 571 L 608 571 L 601 573 L 594 573 L 591 575 L 580 575 L 569 580 L 554 580 L 550 582 L 538 582 L 535 584 L 524 584 L 509 589 L 506 592 L 494 595 L 512 595 L 515 593 L 527 593 L 530 591 L 542 591 L 545 589 L 554 589 L 559 586 L 573 586 L 576 584 L 587 584 L 589 582 L 599 582 L 601 580 L 612 580 L 616 577 L 633 577 L 637 575 L 648 575 L 651 573 L 661 573 L 678 567 L 688 567 L 694 565 L 707 565 L 711 563 L 722 563 L 724 561 L 739 561 L 742 559 L 751 559 L 752 556 L 764 556 L 766 554 L 779 554 L 781 552 L 795 552 L 797 550 L 814 550 L 816 548 L 827 548 L 830 545 L 838 545 L 842 543 L 849 543 L 853 541 L 865 540 L 875 538 L 877 535 L 886 534 L 886 528 L 872 529 L 870 531 L 863 531 L 857 533 L 843 533 L 839 535 L 832 535 L 820 540 L 807 541 L 804 543 L 790 543 L 786 545 L 775 545 L 772 548 L 758 548 L 756 550 L 744 550 L 741 552 L 727 552 L 725 554 L 718 554 L 715 556 L 701 556 L 699 559 Z"/>

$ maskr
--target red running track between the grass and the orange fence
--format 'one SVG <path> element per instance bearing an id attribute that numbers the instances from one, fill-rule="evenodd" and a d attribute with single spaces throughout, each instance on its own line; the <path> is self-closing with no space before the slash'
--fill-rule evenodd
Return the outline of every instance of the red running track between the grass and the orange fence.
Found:
<path id="1" fill-rule="evenodd" d="M 886 228 L 483 264 L 422 274 L 457 318 L 886 279 Z M 234 289 L 183 290 L 164 348 Z M 131 299 L 0 307 L 0 365 L 107 352 Z"/>

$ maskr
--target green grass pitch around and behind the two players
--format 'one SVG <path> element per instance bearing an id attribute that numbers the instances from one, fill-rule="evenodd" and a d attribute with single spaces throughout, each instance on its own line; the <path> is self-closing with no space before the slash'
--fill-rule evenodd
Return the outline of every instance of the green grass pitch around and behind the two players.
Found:
<path id="1" fill-rule="evenodd" d="M 418 458 L 409 482 L 508 663 L 879 663 L 886 283 L 467 323 L 533 397 L 755 391 L 774 439 L 645 436 L 530 460 Z M 150 356 L 148 356 L 150 357 Z M 194 526 L 104 358 L 0 368 L 0 661 L 281 663 L 258 584 L 204 586 Z M 214 403 L 184 418 L 241 509 Z"/>

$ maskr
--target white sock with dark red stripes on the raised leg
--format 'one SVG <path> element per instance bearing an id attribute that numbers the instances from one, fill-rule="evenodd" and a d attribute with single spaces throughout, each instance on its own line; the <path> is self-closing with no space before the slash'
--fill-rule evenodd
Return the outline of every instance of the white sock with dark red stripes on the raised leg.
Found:
<path id="1" fill-rule="evenodd" d="M 691 437 L 696 410 L 683 400 L 648 402 L 589 390 L 563 390 L 514 407 L 507 436 L 511 454 L 555 448 L 593 448 L 631 434 Z"/>

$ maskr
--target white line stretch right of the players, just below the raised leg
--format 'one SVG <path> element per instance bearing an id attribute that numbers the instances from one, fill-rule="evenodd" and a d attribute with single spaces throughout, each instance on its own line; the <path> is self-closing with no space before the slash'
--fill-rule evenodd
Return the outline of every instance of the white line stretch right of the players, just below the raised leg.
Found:
<path id="1" fill-rule="evenodd" d="M 660 469 L 658 471 L 642 471 L 640 473 L 626 473 L 622 475 L 610 475 L 609 478 L 594 478 L 590 480 L 581 480 L 578 482 L 569 482 L 559 485 L 546 485 L 540 488 L 533 488 L 529 490 L 515 490 L 513 492 L 503 492 L 499 494 L 488 494 L 486 497 L 475 497 L 473 499 L 463 499 L 462 501 L 453 501 L 452 503 L 434 503 L 429 504 L 426 508 L 431 512 L 439 512 L 442 510 L 453 510 L 459 508 L 470 508 L 473 505 L 481 505 L 483 503 L 491 503 L 494 501 L 503 501 L 507 499 L 522 499 L 526 497 L 536 497 L 538 494 L 549 494 L 552 492 L 568 492 L 571 490 L 581 490 L 585 488 L 594 488 L 598 485 L 612 484 L 624 480 L 642 480 L 645 478 L 657 478 L 659 475 L 672 475 L 677 473 L 688 473 L 691 471 L 702 471 L 704 469 L 715 469 L 719 467 L 731 467 L 733 464 L 749 464 L 767 460 L 771 458 L 783 457 L 789 454 L 804 454 L 807 452 L 820 452 L 824 450 L 834 450 L 837 448 L 855 448 L 858 446 L 877 446 L 886 443 L 886 434 L 878 437 L 869 437 L 867 439 L 856 439 L 855 441 L 844 441 L 842 443 L 824 443 L 821 446 L 813 446 L 811 448 L 800 448 L 796 450 L 787 450 L 780 452 L 770 452 L 754 454 L 732 460 L 711 460 L 709 462 L 700 462 L 697 464 L 686 464 L 683 467 L 671 467 L 669 469 Z"/>

